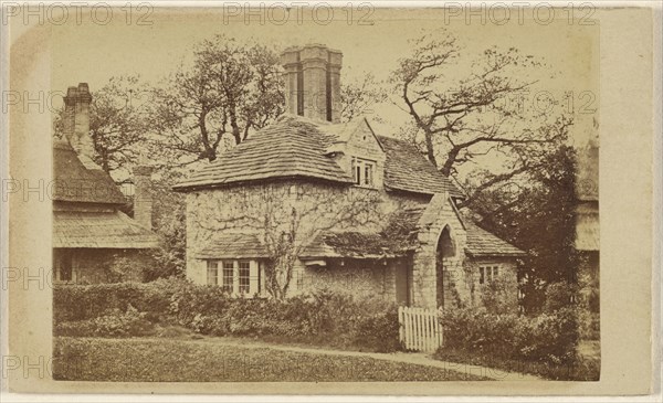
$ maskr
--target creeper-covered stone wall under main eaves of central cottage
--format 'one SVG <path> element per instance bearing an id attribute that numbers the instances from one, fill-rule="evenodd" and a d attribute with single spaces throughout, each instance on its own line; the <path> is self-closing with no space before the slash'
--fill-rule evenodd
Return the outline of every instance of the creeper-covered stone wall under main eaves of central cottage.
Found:
<path id="1" fill-rule="evenodd" d="M 187 194 L 187 276 L 194 283 L 206 283 L 207 264 L 196 256 L 220 233 L 259 233 L 262 238 L 294 227 L 295 245 L 302 246 L 324 231 L 380 231 L 390 213 L 427 201 L 427 197 L 309 180 L 191 192 Z M 270 231 L 265 230 L 266 221 Z M 295 269 L 311 274 L 303 264 Z"/>

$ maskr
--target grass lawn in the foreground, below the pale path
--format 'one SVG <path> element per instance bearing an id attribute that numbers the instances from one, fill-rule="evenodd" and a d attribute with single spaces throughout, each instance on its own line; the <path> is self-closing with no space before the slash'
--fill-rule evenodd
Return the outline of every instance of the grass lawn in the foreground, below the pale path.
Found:
<path id="1" fill-rule="evenodd" d="M 451 370 L 199 340 L 55 338 L 53 378 L 125 382 L 481 381 Z"/>

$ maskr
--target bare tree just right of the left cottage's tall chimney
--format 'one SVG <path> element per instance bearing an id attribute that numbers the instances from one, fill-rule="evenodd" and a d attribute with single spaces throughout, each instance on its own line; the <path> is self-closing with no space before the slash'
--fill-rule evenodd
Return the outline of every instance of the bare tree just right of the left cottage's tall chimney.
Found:
<path id="1" fill-rule="evenodd" d="M 151 88 L 137 76 L 110 77 L 92 92 L 90 135 L 94 161 L 104 171 L 126 170 L 137 159 L 150 130 L 150 95 Z M 63 114 L 61 109 L 55 120 L 56 136 L 62 136 Z"/>

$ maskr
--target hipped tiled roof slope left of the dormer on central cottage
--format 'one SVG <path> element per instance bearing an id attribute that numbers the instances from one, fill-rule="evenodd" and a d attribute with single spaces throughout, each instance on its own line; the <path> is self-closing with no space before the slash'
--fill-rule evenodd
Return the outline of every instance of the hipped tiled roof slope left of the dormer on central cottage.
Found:
<path id="1" fill-rule="evenodd" d="M 246 141 L 221 153 L 212 163 L 173 189 L 288 177 L 351 183 L 352 179 L 324 155 L 332 140 L 316 124 L 284 115 Z"/>

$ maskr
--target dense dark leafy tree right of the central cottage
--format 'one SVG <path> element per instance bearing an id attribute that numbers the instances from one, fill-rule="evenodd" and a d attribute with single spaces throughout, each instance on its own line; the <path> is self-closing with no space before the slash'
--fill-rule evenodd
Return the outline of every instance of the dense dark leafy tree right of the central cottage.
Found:
<path id="1" fill-rule="evenodd" d="M 526 185 L 491 189 L 470 205 L 481 226 L 527 252 L 520 269 L 527 310 L 543 305 L 546 284 L 577 283 L 576 152 L 560 146 L 541 163 Z"/>

